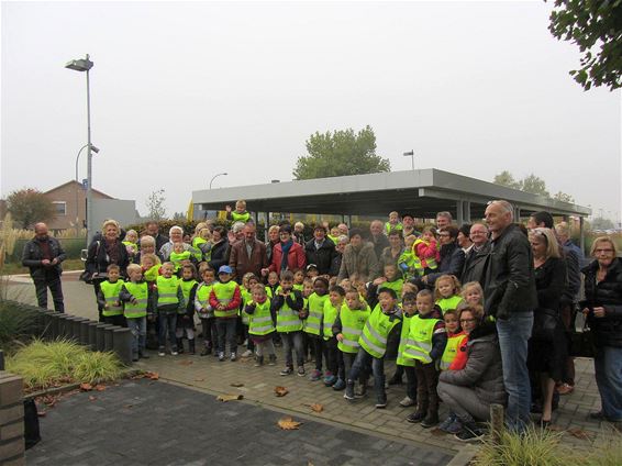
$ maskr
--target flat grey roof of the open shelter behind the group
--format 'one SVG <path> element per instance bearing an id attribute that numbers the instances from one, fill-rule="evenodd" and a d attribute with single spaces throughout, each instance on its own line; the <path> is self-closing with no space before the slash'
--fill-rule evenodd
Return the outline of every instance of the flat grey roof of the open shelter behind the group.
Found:
<path id="1" fill-rule="evenodd" d="M 586 207 L 435 168 L 192 191 L 192 202 L 203 210 L 220 210 L 241 198 L 252 212 L 386 217 L 397 210 L 431 219 L 446 210 L 470 220 L 484 217 L 488 201 L 506 199 L 523 217 L 540 210 L 553 215 L 591 213 Z"/>

